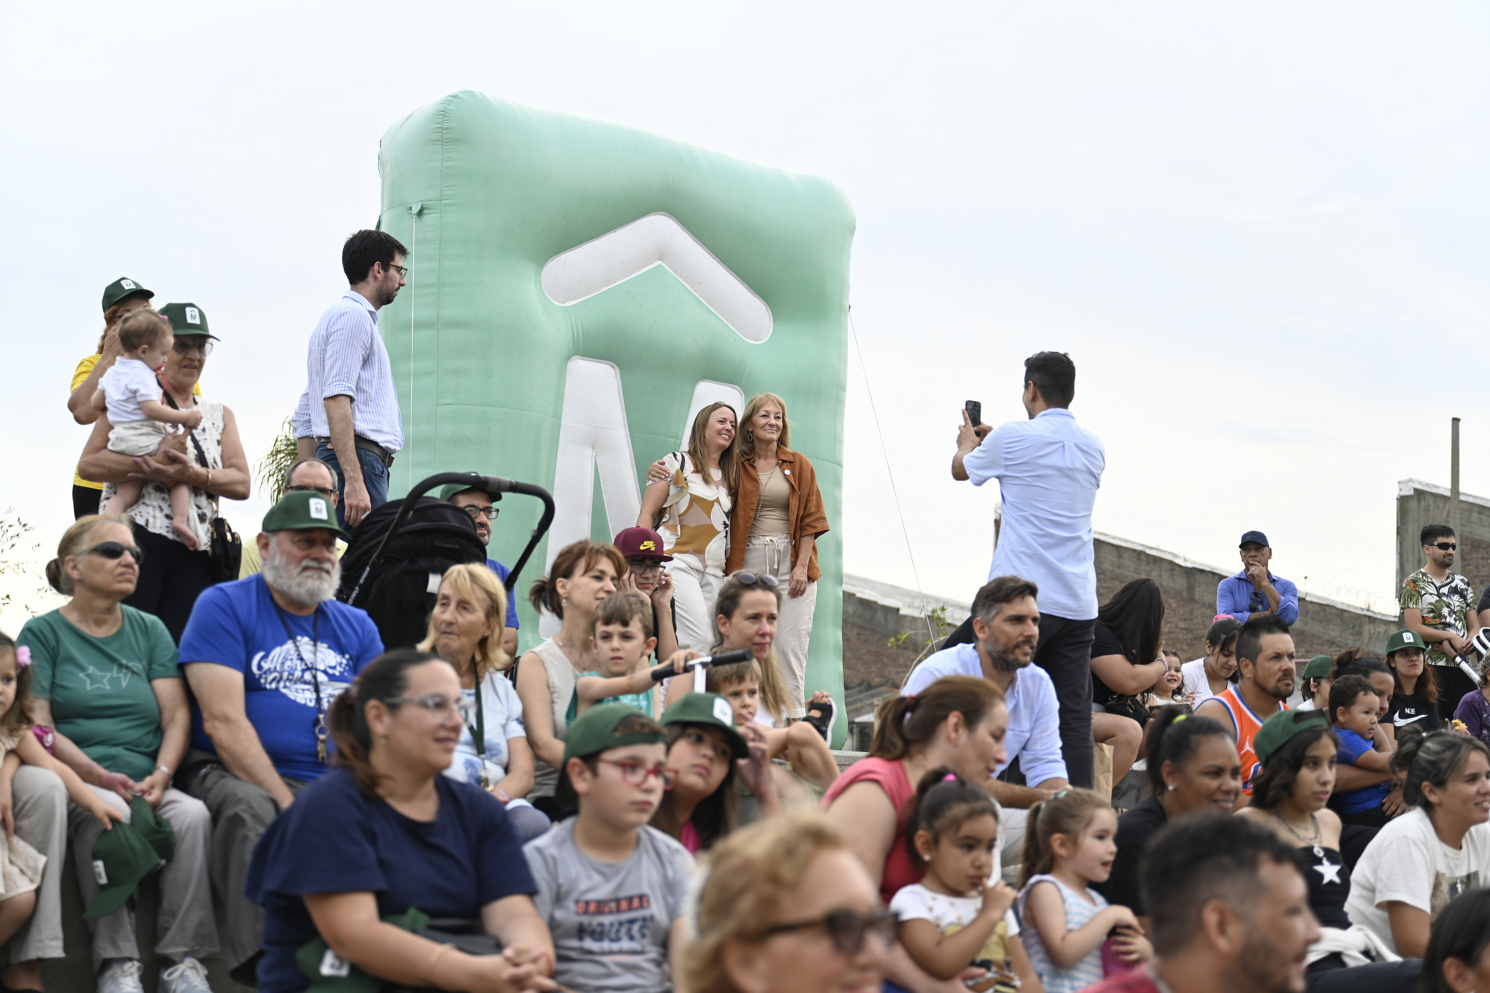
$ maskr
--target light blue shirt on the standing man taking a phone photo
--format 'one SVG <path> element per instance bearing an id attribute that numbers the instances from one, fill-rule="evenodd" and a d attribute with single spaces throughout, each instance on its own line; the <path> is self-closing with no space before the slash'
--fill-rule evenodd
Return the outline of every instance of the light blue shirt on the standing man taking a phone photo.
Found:
<path id="1" fill-rule="evenodd" d="M 1052 406 L 995 427 L 963 467 L 973 485 L 998 479 L 1004 505 L 988 578 L 1030 579 L 1040 588 L 1042 613 L 1095 618 L 1092 506 L 1107 467 L 1101 438 L 1077 424 L 1071 411 Z"/>

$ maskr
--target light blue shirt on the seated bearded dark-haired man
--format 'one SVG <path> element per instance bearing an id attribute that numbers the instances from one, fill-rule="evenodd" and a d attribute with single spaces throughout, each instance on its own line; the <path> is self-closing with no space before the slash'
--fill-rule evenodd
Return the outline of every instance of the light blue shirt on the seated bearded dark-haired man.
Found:
<path id="1" fill-rule="evenodd" d="M 983 679 L 977 646 L 963 643 L 943 648 L 915 667 L 900 695 L 912 697 L 943 676 Z M 1065 759 L 1061 758 L 1061 707 L 1050 676 L 1039 665 L 1021 668 L 1004 691 L 1004 707 L 1009 709 L 1009 734 L 1004 735 L 1009 756 L 994 774 L 1003 773 L 1018 758 L 1030 786 L 1047 779 L 1067 779 Z"/>

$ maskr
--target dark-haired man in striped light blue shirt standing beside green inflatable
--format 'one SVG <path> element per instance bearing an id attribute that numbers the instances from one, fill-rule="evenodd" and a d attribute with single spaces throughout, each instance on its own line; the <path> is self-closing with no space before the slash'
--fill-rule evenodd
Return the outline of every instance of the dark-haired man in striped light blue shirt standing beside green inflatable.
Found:
<path id="1" fill-rule="evenodd" d="M 337 520 L 356 527 L 387 502 L 389 466 L 404 447 L 398 390 L 377 311 L 404 286 L 408 250 L 384 231 L 358 231 L 341 246 L 347 292 L 310 335 L 305 392 L 291 427 L 301 459 L 320 459 L 337 473 Z"/>

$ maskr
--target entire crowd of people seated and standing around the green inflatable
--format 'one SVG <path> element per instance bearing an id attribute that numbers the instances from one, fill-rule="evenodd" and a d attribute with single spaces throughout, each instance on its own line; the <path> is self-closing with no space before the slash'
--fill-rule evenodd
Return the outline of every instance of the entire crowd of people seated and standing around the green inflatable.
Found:
<path id="1" fill-rule="evenodd" d="M 1307 662 L 1298 590 L 1247 530 L 1186 661 L 1152 579 L 1098 603 L 1106 453 L 1070 357 L 1031 356 L 1028 418 L 964 411 L 952 459 L 1000 484 L 988 582 L 840 771 L 834 703 L 806 686 L 828 520 L 773 393 L 706 405 L 633 527 L 557 549 L 527 597 L 559 630 L 526 652 L 496 560 L 437 573 L 417 643 L 335 598 L 402 448 L 377 317 L 405 258 L 386 232 L 344 244 L 299 457 L 241 549 L 218 503 L 247 496 L 247 464 L 200 383 L 219 338 L 195 304 L 104 290 L 69 397 L 92 424 L 76 521 L 48 564 L 67 603 L 0 636 L 4 989 L 43 989 L 66 954 L 69 846 L 100 993 L 143 990 L 152 874 L 165 993 L 209 990 L 218 954 L 268 993 L 1490 977 L 1490 591 L 1451 572 L 1447 527 L 1424 529 L 1380 658 Z M 501 494 L 438 499 L 490 542 Z M 691 665 L 723 652 L 742 661 Z"/>

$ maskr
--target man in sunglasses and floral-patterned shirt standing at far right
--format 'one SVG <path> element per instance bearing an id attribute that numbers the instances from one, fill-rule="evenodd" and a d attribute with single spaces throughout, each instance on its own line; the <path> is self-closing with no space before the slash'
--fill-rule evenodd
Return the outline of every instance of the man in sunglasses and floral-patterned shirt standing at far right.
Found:
<path id="1" fill-rule="evenodd" d="M 1475 588 L 1453 572 L 1459 540 L 1447 524 L 1429 524 L 1420 533 L 1423 567 L 1402 581 L 1402 624 L 1427 643 L 1427 664 L 1439 697 L 1453 710 L 1465 694 L 1478 686 L 1459 668 L 1463 658 L 1474 665 L 1469 639 L 1480 630 Z M 1478 668 L 1478 667 L 1477 667 Z"/>

